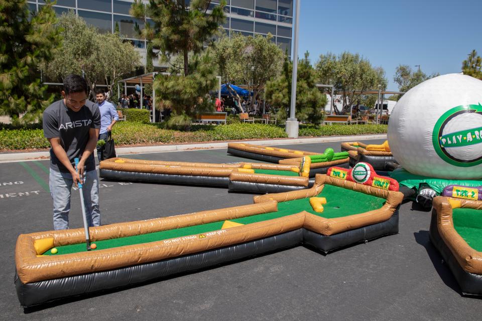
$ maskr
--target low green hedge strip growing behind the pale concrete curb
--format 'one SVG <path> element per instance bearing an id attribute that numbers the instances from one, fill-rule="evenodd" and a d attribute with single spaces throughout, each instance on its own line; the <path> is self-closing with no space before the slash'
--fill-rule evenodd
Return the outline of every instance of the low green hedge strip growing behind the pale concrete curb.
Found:
<path id="1" fill-rule="evenodd" d="M 136 109 L 134 109 L 136 110 Z M 139 109 L 138 109 L 139 110 Z M 386 133 L 387 125 L 300 125 L 300 136 L 332 136 Z M 233 123 L 192 125 L 190 131 L 164 129 L 162 123 L 117 122 L 112 129 L 116 146 L 135 144 L 189 143 L 213 140 L 269 139 L 287 137 L 281 125 Z M 0 150 L 50 147 L 42 129 L 0 130 Z"/>

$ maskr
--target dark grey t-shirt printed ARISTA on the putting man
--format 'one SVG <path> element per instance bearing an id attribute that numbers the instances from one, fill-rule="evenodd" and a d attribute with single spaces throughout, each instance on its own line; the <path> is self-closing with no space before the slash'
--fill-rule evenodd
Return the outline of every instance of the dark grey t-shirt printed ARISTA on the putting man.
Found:
<path id="1" fill-rule="evenodd" d="M 87 145 L 89 129 L 100 128 L 99 107 L 87 100 L 85 105 L 75 112 L 65 106 L 63 99 L 56 101 L 45 109 L 43 126 L 46 138 L 60 137 L 60 144 L 74 166 L 74 158 L 80 158 Z M 85 162 L 85 166 L 86 171 L 95 170 L 93 153 Z M 52 148 L 50 148 L 50 168 L 57 172 L 69 172 L 59 161 Z"/>

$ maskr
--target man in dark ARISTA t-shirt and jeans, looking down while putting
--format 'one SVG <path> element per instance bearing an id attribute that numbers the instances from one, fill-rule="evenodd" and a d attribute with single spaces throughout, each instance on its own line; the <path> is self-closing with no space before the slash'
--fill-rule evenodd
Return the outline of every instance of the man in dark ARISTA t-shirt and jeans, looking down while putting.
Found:
<path id="1" fill-rule="evenodd" d="M 87 83 L 78 75 L 64 79 L 63 99 L 43 114 L 44 136 L 50 145 L 49 186 L 54 201 L 54 229 L 69 228 L 72 184 L 82 184 L 85 214 L 89 226 L 100 225 L 99 183 L 93 150 L 100 129 L 97 104 L 87 100 Z M 80 159 L 78 173 L 74 158 Z"/>

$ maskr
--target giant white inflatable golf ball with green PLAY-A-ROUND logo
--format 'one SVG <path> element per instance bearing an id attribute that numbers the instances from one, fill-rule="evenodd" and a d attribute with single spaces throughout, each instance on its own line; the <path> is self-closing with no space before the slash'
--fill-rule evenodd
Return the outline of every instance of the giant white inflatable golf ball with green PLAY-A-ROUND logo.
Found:
<path id="1" fill-rule="evenodd" d="M 482 179 L 482 81 L 438 76 L 413 87 L 390 115 L 388 140 L 408 172 L 442 179 Z"/>

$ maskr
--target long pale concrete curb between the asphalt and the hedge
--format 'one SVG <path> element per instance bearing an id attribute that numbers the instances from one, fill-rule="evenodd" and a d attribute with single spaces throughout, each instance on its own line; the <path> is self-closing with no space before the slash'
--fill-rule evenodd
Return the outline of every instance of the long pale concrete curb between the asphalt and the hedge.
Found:
<path id="1" fill-rule="evenodd" d="M 330 142 L 330 141 L 349 141 L 349 140 L 386 139 L 386 138 L 387 138 L 387 134 L 375 134 L 375 135 L 359 135 L 359 136 L 287 138 L 287 139 L 273 139 L 273 140 L 239 140 L 239 141 L 233 140 L 229 142 L 248 142 L 256 145 L 287 145 L 287 144 L 306 144 L 306 143 L 318 143 L 318 142 Z M 193 149 L 217 149 L 217 148 L 226 148 L 227 144 L 228 144 L 228 141 L 182 144 L 182 145 L 121 147 L 121 148 L 115 148 L 115 151 L 117 152 L 117 155 L 124 155 L 124 154 L 182 151 L 182 150 L 193 150 Z M 5 154 L 0 154 L 0 163 L 38 161 L 39 159 L 48 159 L 48 158 L 50 158 L 50 153 L 48 151 L 5 153 Z"/>

